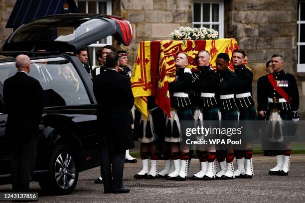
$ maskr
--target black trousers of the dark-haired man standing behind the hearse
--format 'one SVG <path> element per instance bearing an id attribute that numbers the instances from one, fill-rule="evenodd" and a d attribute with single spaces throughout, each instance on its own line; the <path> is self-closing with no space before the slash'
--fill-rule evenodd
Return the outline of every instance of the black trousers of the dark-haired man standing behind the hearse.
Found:
<path id="1" fill-rule="evenodd" d="M 101 175 L 105 192 L 123 188 L 124 164 L 125 150 L 113 153 L 108 145 L 101 144 Z"/>

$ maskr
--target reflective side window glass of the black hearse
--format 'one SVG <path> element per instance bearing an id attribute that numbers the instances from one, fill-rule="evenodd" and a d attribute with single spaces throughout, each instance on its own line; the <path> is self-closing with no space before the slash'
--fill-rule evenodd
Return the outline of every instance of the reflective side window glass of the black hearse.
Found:
<path id="1" fill-rule="evenodd" d="M 14 62 L 0 64 L 0 82 L 3 84 L 16 72 Z M 43 89 L 44 107 L 90 104 L 78 73 L 64 58 L 31 60 L 28 75 L 39 81 Z"/>

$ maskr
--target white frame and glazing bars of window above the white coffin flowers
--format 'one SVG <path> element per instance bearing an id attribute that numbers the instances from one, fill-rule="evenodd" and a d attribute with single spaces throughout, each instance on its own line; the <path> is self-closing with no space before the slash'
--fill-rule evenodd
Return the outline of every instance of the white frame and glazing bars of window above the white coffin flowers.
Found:
<path id="1" fill-rule="evenodd" d="M 200 27 L 202 24 L 209 24 L 210 28 L 212 28 L 212 25 L 219 25 L 219 31 L 218 31 L 218 36 L 219 38 L 224 37 L 224 2 L 223 0 L 194 0 L 193 1 L 193 6 L 194 3 L 200 3 L 200 22 L 194 22 L 194 17 L 193 17 L 193 27 L 195 24 L 199 24 Z M 202 21 L 202 4 L 203 3 L 209 3 L 210 4 L 210 21 L 209 22 L 203 22 Z M 218 22 L 212 22 L 212 4 L 213 3 L 218 3 L 219 4 L 219 21 Z M 194 16 L 194 9 L 193 9 L 193 16 Z"/>

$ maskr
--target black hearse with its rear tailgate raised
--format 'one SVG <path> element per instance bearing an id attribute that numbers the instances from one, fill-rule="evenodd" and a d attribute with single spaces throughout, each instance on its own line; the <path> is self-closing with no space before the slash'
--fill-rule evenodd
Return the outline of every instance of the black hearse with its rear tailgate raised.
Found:
<path id="1" fill-rule="evenodd" d="M 30 57 L 29 75 L 44 90 L 34 181 L 42 190 L 69 194 L 79 172 L 99 165 L 93 85 L 72 53 L 110 35 L 128 46 L 132 27 L 116 16 L 61 14 L 27 22 L 7 38 L 0 52 L 0 184 L 11 182 L 3 83 L 16 73 L 14 60 L 19 54 Z M 46 70 L 43 77 L 37 71 L 42 66 Z"/>

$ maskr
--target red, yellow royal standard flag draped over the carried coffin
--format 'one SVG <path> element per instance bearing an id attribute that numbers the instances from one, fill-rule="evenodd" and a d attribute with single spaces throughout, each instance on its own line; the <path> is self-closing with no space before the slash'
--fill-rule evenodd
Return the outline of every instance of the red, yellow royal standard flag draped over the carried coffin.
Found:
<path id="1" fill-rule="evenodd" d="M 156 104 L 170 116 L 170 100 L 168 83 L 175 78 L 174 59 L 179 52 L 185 52 L 189 57 L 188 68 L 197 68 L 195 60 L 198 51 L 206 50 L 210 53 L 211 67 L 216 69 L 218 53 L 232 52 L 238 49 L 235 39 L 217 40 L 162 40 L 143 41 L 138 47 L 138 55 L 131 78 L 135 105 L 147 118 L 147 97 L 154 96 Z M 232 68 L 232 64 L 230 64 Z"/>

